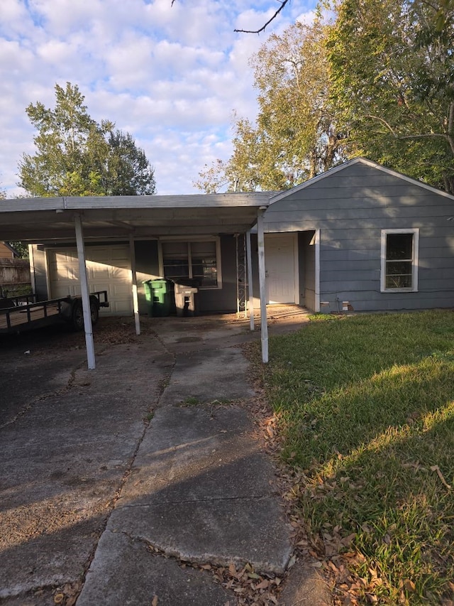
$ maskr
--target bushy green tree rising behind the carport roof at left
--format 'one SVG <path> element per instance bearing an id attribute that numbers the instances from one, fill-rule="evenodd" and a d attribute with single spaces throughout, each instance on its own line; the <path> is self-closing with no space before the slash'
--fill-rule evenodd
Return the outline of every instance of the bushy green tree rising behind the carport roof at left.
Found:
<path id="1" fill-rule="evenodd" d="M 153 167 L 130 134 L 111 121 L 96 123 L 77 85 L 55 85 L 55 109 L 30 104 L 38 134 L 35 155 L 24 154 L 19 182 L 33 196 L 155 193 Z"/>

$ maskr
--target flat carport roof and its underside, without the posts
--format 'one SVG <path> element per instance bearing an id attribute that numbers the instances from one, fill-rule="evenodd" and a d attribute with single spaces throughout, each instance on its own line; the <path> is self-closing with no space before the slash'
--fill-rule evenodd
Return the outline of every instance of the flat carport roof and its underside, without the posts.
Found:
<path id="1" fill-rule="evenodd" d="M 74 215 L 86 240 L 242 233 L 269 200 L 267 192 L 1 200 L 0 241 L 72 240 Z"/>

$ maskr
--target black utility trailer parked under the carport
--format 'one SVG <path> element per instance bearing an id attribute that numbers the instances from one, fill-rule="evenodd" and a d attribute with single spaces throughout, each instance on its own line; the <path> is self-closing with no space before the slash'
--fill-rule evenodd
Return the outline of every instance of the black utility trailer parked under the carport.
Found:
<path id="1" fill-rule="evenodd" d="M 107 291 L 90 294 L 92 324 L 99 318 L 99 308 L 109 307 Z M 0 334 L 22 332 L 65 321 L 74 330 L 83 330 L 84 312 L 82 297 L 62 297 L 49 301 L 36 301 L 35 295 L 0 298 Z"/>

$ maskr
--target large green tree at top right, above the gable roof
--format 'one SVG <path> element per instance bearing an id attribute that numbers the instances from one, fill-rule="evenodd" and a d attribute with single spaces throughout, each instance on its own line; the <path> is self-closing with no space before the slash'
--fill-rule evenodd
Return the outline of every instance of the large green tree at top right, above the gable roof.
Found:
<path id="1" fill-rule="evenodd" d="M 327 48 L 350 141 L 454 193 L 453 0 L 343 0 Z"/>

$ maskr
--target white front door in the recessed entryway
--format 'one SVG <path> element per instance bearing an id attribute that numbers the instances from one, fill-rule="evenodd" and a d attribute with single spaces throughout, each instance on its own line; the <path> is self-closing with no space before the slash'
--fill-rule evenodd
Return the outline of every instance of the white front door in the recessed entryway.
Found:
<path id="1" fill-rule="evenodd" d="M 297 234 L 265 234 L 267 303 L 297 301 Z"/>

